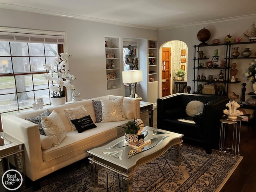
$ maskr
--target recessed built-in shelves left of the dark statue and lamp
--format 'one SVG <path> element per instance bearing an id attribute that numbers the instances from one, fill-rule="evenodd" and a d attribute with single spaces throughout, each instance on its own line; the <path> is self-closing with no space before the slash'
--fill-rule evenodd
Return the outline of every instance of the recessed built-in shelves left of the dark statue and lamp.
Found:
<path id="1" fill-rule="evenodd" d="M 110 42 L 111 40 L 111 42 Z M 108 90 L 121 88 L 120 38 L 105 37 L 106 82 Z M 111 65 L 114 63 L 114 66 Z"/>

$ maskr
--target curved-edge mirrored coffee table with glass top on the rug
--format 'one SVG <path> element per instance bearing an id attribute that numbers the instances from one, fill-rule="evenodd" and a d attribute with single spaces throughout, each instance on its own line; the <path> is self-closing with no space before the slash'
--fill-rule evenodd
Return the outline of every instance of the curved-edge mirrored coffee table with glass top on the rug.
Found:
<path id="1" fill-rule="evenodd" d="M 88 151 L 94 187 L 98 186 L 98 165 L 101 165 L 122 175 L 124 191 L 132 192 L 132 177 L 136 168 L 158 158 L 172 146 L 175 146 L 176 165 L 180 166 L 180 146 L 184 135 L 149 126 L 144 127 L 142 134 L 145 139 L 151 140 L 142 148 L 127 146 L 122 136 Z"/>

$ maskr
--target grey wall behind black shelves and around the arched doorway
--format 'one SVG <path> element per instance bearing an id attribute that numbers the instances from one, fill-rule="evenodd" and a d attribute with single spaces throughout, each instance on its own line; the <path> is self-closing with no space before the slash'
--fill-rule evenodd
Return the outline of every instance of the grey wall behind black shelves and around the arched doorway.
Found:
<path id="1" fill-rule="evenodd" d="M 246 19 L 238 19 L 238 20 L 230 20 L 225 22 L 216 22 L 211 23 L 208 25 L 197 25 L 197 26 L 188 26 L 183 28 L 174 28 L 174 29 L 168 29 L 168 30 L 160 30 L 158 34 L 158 44 L 162 45 L 165 42 L 171 41 L 171 40 L 180 40 L 185 42 L 188 45 L 188 86 L 191 86 L 191 90 L 193 90 L 193 66 L 194 66 L 194 45 L 198 45 L 201 42 L 197 39 L 197 33 L 200 29 L 206 28 L 210 30 L 211 37 L 210 40 L 207 41 L 208 44 L 212 44 L 212 40 L 215 38 L 220 39 L 221 43 L 224 42 L 224 38 L 230 34 L 233 39 L 235 39 L 238 36 L 242 37 L 242 42 L 248 42 L 249 39 L 244 37 L 243 33 L 244 31 L 251 26 L 251 24 L 256 21 L 255 18 L 246 18 Z M 246 48 L 246 45 L 239 46 L 239 52 L 244 50 Z M 204 48 L 206 50 L 206 48 Z M 250 48 L 252 50 L 252 56 L 255 57 L 256 52 L 256 46 L 253 48 Z M 211 53 L 209 53 L 211 54 Z M 219 53 L 220 55 L 220 53 Z M 211 58 L 212 55 L 208 55 L 209 58 Z M 220 58 L 221 60 L 222 58 Z M 252 84 L 248 81 L 246 81 L 246 77 L 244 76 L 244 73 L 247 71 L 248 67 L 250 66 L 252 60 L 250 59 L 243 59 L 243 60 L 236 60 L 237 63 L 237 69 L 238 74 L 236 77 L 239 81 L 241 81 L 238 84 L 230 84 L 229 92 L 235 92 L 239 95 L 239 100 L 241 97 L 241 90 L 242 90 L 242 83 L 246 82 L 247 90 L 246 90 L 246 100 L 250 98 L 250 95 L 247 95 L 249 92 L 252 92 Z M 191 71 L 191 72 L 190 72 Z M 218 70 L 217 70 L 218 71 Z M 206 72 L 207 73 L 207 72 Z M 211 72 L 212 73 L 212 72 Z M 207 76 L 210 74 L 206 74 Z"/>

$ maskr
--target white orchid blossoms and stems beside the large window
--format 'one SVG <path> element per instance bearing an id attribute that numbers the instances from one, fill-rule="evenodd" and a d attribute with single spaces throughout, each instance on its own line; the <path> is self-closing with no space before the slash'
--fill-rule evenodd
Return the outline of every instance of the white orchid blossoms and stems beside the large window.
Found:
<path id="1" fill-rule="evenodd" d="M 71 55 L 68 53 L 60 53 L 56 56 L 52 64 L 44 64 L 44 68 L 49 71 L 49 73 L 44 74 L 44 78 L 46 80 L 52 81 L 50 90 L 53 91 L 53 98 L 65 96 L 66 92 L 63 90 L 64 86 L 74 91 L 74 85 L 72 85 L 72 81 L 76 80 L 76 78 L 74 75 L 69 73 L 69 70 L 66 70 L 64 67 L 68 58 L 70 57 Z"/>

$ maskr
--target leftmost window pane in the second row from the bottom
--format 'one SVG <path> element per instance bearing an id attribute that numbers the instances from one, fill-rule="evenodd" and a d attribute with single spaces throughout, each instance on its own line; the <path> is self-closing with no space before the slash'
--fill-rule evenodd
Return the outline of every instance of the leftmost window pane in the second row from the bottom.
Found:
<path id="1" fill-rule="evenodd" d="M 14 76 L 0 77 L 0 94 L 15 93 Z"/>

